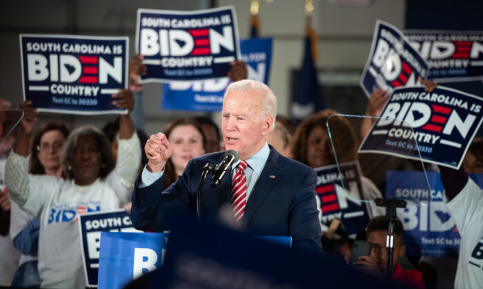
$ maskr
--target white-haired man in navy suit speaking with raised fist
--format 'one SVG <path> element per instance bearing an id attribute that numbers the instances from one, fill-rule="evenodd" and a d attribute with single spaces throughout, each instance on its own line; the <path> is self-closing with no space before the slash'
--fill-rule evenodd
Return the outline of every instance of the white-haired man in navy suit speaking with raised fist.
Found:
<path id="1" fill-rule="evenodd" d="M 216 189 L 206 182 L 201 195 L 201 218 L 214 218 L 223 206 L 233 206 L 241 228 L 253 235 L 291 236 L 294 250 L 322 252 L 321 229 L 315 200 L 316 174 L 306 165 L 281 156 L 265 136 L 273 129 L 277 99 L 257 81 L 238 81 L 226 89 L 221 130 L 226 149 L 239 154 L 230 174 Z M 144 231 L 170 229 L 176 214 L 196 211 L 201 171 L 206 163 L 217 164 L 223 153 L 193 158 L 175 184 L 161 193 L 162 175 L 172 148 L 163 133 L 150 136 L 144 147 L 148 164 L 132 194 L 131 219 Z M 230 199 L 237 184 L 240 162 L 246 162 L 241 204 Z M 233 180 L 233 177 L 235 179 Z M 245 188 L 246 185 L 246 188 Z M 233 199 L 238 198 L 234 197 Z M 232 204 L 233 202 L 233 204 Z"/>

